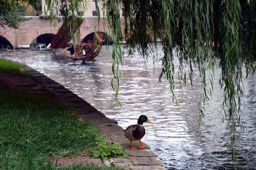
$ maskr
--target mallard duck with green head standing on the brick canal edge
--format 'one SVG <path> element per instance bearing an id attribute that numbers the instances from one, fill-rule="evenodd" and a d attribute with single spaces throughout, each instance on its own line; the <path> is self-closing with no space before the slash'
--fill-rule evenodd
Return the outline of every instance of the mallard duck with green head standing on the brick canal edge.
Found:
<path id="1" fill-rule="evenodd" d="M 132 150 L 137 149 L 135 146 L 132 146 L 132 141 L 139 141 L 140 149 L 146 148 L 140 141 L 145 135 L 145 128 L 143 126 L 144 122 L 153 124 L 145 115 L 141 115 L 137 124 L 130 125 L 125 129 L 125 137 L 129 139 Z"/>

